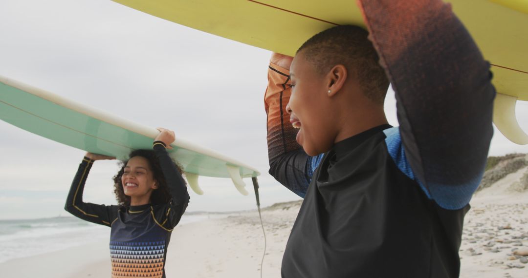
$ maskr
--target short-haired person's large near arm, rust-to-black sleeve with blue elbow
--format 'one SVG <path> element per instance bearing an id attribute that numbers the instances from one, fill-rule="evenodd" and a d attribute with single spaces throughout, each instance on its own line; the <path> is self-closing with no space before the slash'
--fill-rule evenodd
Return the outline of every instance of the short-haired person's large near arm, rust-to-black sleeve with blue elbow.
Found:
<path id="1" fill-rule="evenodd" d="M 370 38 L 396 93 L 407 160 L 438 204 L 465 206 L 493 135 L 489 64 L 440 0 L 360 0 Z"/>

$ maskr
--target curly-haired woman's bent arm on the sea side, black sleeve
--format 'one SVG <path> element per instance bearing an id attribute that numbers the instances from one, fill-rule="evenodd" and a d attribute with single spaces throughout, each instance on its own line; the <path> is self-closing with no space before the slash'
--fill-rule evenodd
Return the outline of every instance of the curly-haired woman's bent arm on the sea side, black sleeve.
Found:
<path id="1" fill-rule="evenodd" d="M 77 174 L 73 178 L 64 209 L 82 220 L 110 226 L 111 222 L 116 218 L 117 206 L 84 203 L 82 200 L 86 178 L 88 177 L 93 162 L 97 159 L 115 158 L 87 153 L 79 165 Z"/>

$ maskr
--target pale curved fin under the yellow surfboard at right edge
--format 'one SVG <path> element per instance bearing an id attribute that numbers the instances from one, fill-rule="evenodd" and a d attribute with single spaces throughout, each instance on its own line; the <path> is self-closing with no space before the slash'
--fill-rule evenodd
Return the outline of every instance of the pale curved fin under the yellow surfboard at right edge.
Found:
<path id="1" fill-rule="evenodd" d="M 528 144 L 528 135 L 515 117 L 517 97 L 497 93 L 493 107 L 493 123 L 508 140 L 515 144 Z"/>

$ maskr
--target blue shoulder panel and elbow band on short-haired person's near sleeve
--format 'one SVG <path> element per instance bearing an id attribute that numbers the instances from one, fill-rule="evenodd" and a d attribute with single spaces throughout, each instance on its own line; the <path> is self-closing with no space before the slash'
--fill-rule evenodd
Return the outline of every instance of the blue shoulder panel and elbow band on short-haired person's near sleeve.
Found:
<path id="1" fill-rule="evenodd" d="M 446 208 L 447 210 L 458 210 L 469 203 L 469 200 L 471 200 L 480 180 L 482 180 L 484 172 L 465 184 L 429 184 L 428 190 L 428 188 L 416 178 L 411 165 L 407 161 L 401 143 L 400 129 L 398 127 L 392 127 L 384 130 L 383 133 L 385 133 L 386 136 L 385 144 L 387 145 L 389 154 L 398 169 L 411 180 L 416 181 L 429 199 L 435 200 L 439 206 Z"/>

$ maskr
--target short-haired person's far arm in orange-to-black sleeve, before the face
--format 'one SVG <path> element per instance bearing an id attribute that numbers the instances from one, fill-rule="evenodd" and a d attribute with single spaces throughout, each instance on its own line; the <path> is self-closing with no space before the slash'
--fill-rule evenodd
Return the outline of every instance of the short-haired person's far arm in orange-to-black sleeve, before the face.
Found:
<path id="1" fill-rule="evenodd" d="M 309 156 L 297 143 L 297 130 L 286 112 L 291 87 L 289 65 L 291 57 L 274 53 L 268 68 L 268 87 L 264 97 L 268 115 L 269 173 L 295 194 L 304 197 L 313 172 L 322 155 Z"/>

